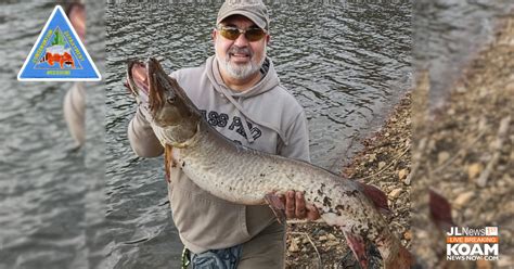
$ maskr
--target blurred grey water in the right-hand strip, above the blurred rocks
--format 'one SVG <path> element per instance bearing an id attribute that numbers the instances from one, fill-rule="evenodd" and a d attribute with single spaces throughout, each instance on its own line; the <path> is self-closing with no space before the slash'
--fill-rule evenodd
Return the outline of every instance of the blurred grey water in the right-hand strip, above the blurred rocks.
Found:
<path id="1" fill-rule="evenodd" d="M 440 108 L 452 82 L 485 44 L 512 0 L 422 0 L 414 8 L 415 65 L 429 71 L 429 107 Z"/>

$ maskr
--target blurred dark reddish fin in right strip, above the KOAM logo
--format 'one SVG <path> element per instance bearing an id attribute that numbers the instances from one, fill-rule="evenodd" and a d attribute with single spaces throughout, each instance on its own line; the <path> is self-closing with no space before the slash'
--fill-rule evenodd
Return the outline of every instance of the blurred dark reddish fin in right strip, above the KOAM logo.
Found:
<path id="1" fill-rule="evenodd" d="M 451 218 L 451 205 L 442 195 L 431 189 L 428 206 L 431 208 L 431 218 L 436 226 L 445 231 L 449 231 L 450 227 L 455 226 Z"/>

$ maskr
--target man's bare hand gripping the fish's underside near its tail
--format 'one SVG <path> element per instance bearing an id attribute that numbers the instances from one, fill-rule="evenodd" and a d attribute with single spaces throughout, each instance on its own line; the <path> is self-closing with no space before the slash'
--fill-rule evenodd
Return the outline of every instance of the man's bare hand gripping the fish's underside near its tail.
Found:
<path id="1" fill-rule="evenodd" d="M 317 220 L 320 218 L 318 209 L 305 202 L 303 192 L 287 191 L 285 197 L 282 195 L 280 198 L 285 205 L 285 216 L 288 219 Z"/>

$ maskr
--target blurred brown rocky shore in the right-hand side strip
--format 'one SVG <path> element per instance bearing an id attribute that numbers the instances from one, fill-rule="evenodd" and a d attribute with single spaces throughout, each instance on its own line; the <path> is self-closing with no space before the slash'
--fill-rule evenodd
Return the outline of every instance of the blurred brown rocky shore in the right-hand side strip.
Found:
<path id="1" fill-rule="evenodd" d="M 513 268 L 514 13 L 461 74 L 444 107 L 431 114 L 422 110 L 429 82 L 423 76 L 417 82 L 413 248 L 423 268 Z M 451 226 L 498 227 L 499 260 L 448 261 L 445 229 L 433 221 L 427 190 L 448 201 Z"/>

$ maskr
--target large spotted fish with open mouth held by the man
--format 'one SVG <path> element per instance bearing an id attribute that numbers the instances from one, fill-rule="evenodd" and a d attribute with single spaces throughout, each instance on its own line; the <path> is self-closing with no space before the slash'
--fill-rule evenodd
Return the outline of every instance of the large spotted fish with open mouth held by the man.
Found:
<path id="1" fill-rule="evenodd" d="M 210 127 L 160 63 L 129 61 L 127 88 L 147 105 L 150 125 L 165 148 L 165 167 L 179 168 L 200 188 L 242 205 L 268 204 L 284 221 L 279 195 L 295 190 L 330 226 L 340 229 L 362 268 L 367 243 L 374 244 L 385 268 L 410 268 L 412 257 L 383 216 L 387 197 L 363 184 L 307 162 L 260 152 L 234 143 Z M 172 180 L 172 179 L 169 179 Z"/>

